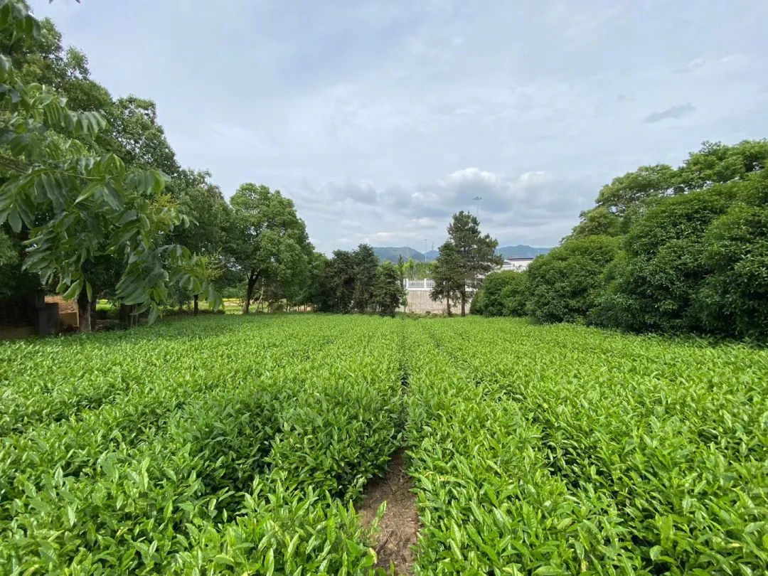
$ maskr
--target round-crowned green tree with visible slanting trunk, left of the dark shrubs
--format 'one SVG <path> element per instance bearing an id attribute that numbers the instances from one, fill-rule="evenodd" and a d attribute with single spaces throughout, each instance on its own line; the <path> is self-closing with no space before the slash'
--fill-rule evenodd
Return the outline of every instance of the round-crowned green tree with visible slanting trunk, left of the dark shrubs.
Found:
<path id="1" fill-rule="evenodd" d="M 246 281 L 243 314 L 258 281 L 283 287 L 305 277 L 312 245 L 290 198 L 269 187 L 242 184 L 230 199 L 228 250 Z"/>

